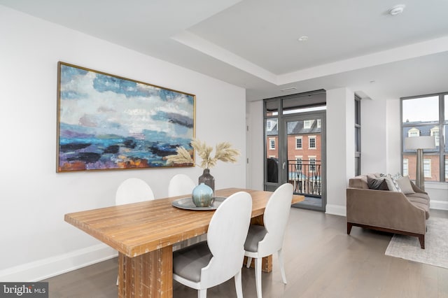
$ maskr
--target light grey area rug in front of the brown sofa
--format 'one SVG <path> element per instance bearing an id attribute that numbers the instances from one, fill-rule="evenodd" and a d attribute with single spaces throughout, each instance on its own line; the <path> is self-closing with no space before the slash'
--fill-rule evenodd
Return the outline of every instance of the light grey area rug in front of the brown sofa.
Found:
<path id="1" fill-rule="evenodd" d="M 386 255 L 448 269 L 448 218 L 429 218 L 426 226 L 425 249 L 417 237 L 394 234 Z"/>

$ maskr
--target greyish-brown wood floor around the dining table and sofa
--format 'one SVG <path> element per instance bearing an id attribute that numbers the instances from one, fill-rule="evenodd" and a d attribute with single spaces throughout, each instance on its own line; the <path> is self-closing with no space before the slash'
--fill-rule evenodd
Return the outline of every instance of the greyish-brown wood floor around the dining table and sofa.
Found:
<path id="1" fill-rule="evenodd" d="M 431 211 L 448 218 L 448 211 Z M 353 227 L 344 217 L 292 208 L 283 250 L 287 285 L 276 266 L 262 274 L 265 298 L 295 297 L 447 297 L 448 269 L 384 255 L 391 234 Z M 50 298 L 118 297 L 118 260 L 112 259 L 49 282 Z M 244 297 L 256 297 L 253 269 L 243 268 Z M 197 291 L 174 281 L 174 297 L 196 298 Z M 207 291 L 207 297 L 236 297 L 230 280 Z"/>

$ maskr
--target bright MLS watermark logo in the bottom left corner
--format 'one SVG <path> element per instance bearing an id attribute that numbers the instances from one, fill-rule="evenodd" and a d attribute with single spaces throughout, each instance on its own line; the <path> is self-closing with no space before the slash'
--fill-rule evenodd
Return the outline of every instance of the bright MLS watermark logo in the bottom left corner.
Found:
<path id="1" fill-rule="evenodd" d="M 0 297 L 48 298 L 48 283 L 0 283 Z"/>

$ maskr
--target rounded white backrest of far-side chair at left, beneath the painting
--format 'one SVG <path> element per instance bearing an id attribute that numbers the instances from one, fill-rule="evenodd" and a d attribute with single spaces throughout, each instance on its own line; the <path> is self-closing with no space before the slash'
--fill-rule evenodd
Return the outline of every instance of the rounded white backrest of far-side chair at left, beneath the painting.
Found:
<path id="1" fill-rule="evenodd" d="M 151 199 L 154 199 L 154 194 L 148 183 L 140 178 L 128 178 L 118 186 L 115 204 L 123 205 Z"/>

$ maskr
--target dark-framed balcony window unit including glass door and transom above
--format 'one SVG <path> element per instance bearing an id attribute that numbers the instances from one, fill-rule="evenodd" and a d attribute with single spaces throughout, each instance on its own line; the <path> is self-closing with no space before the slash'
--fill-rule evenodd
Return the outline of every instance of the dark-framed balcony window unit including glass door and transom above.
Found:
<path id="1" fill-rule="evenodd" d="M 265 99 L 265 190 L 291 183 L 325 211 L 325 90 Z"/>

